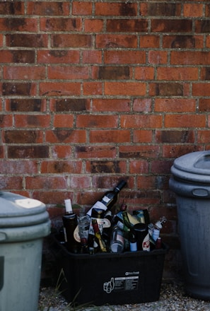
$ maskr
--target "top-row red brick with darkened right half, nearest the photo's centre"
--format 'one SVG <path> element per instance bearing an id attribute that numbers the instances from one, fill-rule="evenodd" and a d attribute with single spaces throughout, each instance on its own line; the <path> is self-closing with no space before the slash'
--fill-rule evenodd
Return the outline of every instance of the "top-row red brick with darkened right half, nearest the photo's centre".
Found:
<path id="1" fill-rule="evenodd" d="M 95 15 L 99 16 L 136 16 L 137 4 L 96 2 Z"/>

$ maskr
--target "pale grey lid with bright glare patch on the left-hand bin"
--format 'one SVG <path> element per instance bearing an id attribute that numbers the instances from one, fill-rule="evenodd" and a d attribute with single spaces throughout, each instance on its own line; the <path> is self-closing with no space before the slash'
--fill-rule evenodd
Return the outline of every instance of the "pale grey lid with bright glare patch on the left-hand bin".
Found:
<path id="1" fill-rule="evenodd" d="M 0 192 L 0 228 L 15 228 L 45 223 L 49 219 L 41 201 L 11 192 Z"/>

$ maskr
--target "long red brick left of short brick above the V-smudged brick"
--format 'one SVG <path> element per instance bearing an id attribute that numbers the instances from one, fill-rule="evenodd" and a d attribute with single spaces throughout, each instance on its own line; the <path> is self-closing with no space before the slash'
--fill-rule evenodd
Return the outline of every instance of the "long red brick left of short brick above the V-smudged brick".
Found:
<path id="1" fill-rule="evenodd" d="M 15 127 L 47 128 L 50 126 L 50 120 L 49 115 L 14 115 Z"/>

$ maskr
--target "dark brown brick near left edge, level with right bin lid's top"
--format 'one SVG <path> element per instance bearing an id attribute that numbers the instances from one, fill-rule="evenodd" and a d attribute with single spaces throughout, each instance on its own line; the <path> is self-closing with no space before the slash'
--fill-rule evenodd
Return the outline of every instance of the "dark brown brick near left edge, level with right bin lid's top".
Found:
<path id="1" fill-rule="evenodd" d="M 31 145 L 30 146 L 8 146 L 8 158 L 48 158 L 49 146 Z"/>

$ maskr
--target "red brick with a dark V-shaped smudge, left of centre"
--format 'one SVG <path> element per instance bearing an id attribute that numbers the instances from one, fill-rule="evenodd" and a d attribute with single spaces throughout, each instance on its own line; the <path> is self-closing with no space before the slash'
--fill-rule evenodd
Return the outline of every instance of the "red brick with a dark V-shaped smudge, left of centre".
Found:
<path id="1" fill-rule="evenodd" d="M 46 131 L 48 143 L 86 143 L 86 131 L 81 129 L 54 129 Z"/>

